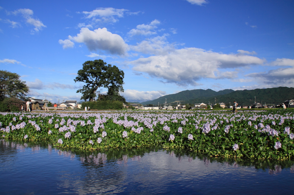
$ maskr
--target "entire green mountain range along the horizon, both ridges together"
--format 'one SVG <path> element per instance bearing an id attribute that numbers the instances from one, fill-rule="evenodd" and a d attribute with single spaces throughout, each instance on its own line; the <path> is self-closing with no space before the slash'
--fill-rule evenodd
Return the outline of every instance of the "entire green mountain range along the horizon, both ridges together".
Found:
<path id="1" fill-rule="evenodd" d="M 225 103 L 231 105 L 233 101 L 236 100 L 239 104 L 250 106 L 254 104 L 254 97 L 256 97 L 256 102 L 266 103 L 266 104 L 281 104 L 286 100 L 294 98 L 294 88 L 290 87 L 277 87 L 277 88 L 267 88 L 267 89 L 254 89 L 254 90 L 232 90 L 225 89 L 221 91 L 213 91 L 211 89 L 195 89 L 195 90 L 185 90 L 176 94 L 169 94 L 157 98 L 156 100 L 151 100 L 147 102 L 142 102 L 141 104 L 163 104 L 165 100 L 171 105 L 176 104 L 176 102 L 181 101 L 181 104 L 195 104 L 195 103 L 205 103 L 209 102 Z"/>

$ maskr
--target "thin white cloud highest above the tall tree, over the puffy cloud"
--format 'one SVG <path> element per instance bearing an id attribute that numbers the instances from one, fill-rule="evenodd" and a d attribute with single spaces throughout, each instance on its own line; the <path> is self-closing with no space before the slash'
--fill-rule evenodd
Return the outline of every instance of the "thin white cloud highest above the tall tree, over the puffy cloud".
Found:
<path id="1" fill-rule="evenodd" d="M 92 19 L 94 22 L 104 22 L 104 23 L 116 23 L 117 18 L 122 18 L 126 9 L 115 9 L 115 8 L 97 8 L 93 11 L 83 11 L 82 13 L 86 15 L 86 18 Z"/>

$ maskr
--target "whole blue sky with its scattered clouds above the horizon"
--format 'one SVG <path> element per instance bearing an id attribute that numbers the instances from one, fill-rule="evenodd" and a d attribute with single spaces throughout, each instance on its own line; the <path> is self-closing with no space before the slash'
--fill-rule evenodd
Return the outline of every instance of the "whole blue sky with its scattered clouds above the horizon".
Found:
<path id="1" fill-rule="evenodd" d="M 294 1 L 2 1 L 0 69 L 29 96 L 79 100 L 88 60 L 125 73 L 127 101 L 294 86 Z M 102 89 L 106 92 L 106 89 Z"/>

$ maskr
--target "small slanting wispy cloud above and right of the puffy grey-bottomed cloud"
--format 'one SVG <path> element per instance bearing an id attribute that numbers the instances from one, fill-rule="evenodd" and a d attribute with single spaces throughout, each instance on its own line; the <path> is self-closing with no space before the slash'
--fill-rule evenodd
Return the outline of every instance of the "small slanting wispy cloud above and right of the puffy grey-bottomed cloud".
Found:
<path id="1" fill-rule="evenodd" d="M 129 36 L 134 36 L 134 35 L 148 36 L 148 35 L 156 34 L 155 29 L 157 28 L 159 24 L 160 24 L 160 21 L 155 19 L 149 24 L 137 25 L 136 29 L 134 28 L 130 30 L 130 32 L 128 32 L 128 35 Z"/>

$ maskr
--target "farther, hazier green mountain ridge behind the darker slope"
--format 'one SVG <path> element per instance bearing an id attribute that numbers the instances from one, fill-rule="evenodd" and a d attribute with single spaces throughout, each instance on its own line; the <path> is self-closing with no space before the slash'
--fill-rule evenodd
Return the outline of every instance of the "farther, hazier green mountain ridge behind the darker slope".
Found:
<path id="1" fill-rule="evenodd" d="M 224 95 L 233 92 L 234 90 L 232 89 L 225 89 L 221 91 L 214 91 L 211 89 L 203 90 L 203 89 L 194 89 L 194 90 L 185 90 L 181 91 L 176 94 L 169 94 L 169 95 L 164 95 L 160 98 L 157 98 L 155 100 L 150 100 L 147 102 L 142 102 L 141 104 L 147 105 L 147 104 L 163 104 L 165 100 L 167 100 L 168 103 L 170 102 L 175 102 L 175 101 L 185 101 L 185 100 L 193 100 L 196 98 L 208 98 L 208 97 L 214 97 L 217 95 Z"/>

